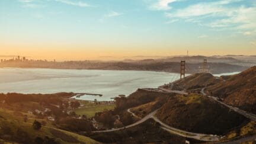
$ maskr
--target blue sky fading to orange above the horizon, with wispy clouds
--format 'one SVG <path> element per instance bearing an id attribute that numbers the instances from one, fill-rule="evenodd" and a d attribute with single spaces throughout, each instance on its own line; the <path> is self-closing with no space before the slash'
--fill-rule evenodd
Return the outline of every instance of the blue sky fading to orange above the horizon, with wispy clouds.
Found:
<path id="1" fill-rule="evenodd" d="M 254 0 L 0 0 L 0 55 L 256 55 Z"/>

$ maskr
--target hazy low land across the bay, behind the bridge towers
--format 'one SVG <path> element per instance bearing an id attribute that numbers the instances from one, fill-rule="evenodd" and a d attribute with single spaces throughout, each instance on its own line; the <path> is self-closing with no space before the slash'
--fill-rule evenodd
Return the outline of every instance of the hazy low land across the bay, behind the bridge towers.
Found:
<path id="1" fill-rule="evenodd" d="M 186 73 L 199 72 L 203 66 L 203 59 L 198 62 L 186 62 Z M 212 73 L 239 72 L 247 69 L 247 66 L 231 65 L 229 63 L 209 62 L 207 66 Z M 171 62 L 168 59 L 145 59 L 134 61 L 68 61 L 47 62 L 43 60 L 5 61 L 0 62 L 0 68 L 54 68 L 54 69 L 100 69 L 100 70 L 129 70 L 129 71 L 159 71 L 180 73 L 180 60 Z"/>

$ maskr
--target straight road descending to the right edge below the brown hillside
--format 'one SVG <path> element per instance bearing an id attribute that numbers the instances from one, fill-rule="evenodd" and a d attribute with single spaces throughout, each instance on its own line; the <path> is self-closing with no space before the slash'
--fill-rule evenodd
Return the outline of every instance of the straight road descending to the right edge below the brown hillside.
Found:
<path id="1" fill-rule="evenodd" d="M 201 94 L 206 95 L 206 93 L 204 92 L 204 89 L 205 89 L 205 88 L 201 89 Z M 225 104 L 225 103 L 223 103 L 223 102 L 217 100 L 216 97 L 211 97 L 211 96 L 209 96 L 209 95 L 207 95 L 207 97 L 212 98 L 213 100 L 217 101 L 217 103 L 220 103 L 220 104 L 222 104 L 222 105 L 225 105 L 226 107 L 230 108 L 231 110 L 235 111 L 236 113 L 241 114 L 242 116 L 247 117 L 248 119 L 251 119 L 251 120 L 256 121 L 256 115 L 255 115 L 255 114 L 248 113 L 247 111 L 241 110 L 241 109 L 239 109 L 239 108 L 237 108 L 237 107 L 232 107 L 231 105 Z"/>

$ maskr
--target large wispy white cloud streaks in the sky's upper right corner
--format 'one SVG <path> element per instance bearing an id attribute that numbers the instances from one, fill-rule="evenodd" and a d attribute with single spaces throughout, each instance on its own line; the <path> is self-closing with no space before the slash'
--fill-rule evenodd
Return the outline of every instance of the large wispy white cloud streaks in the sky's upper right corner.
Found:
<path id="1" fill-rule="evenodd" d="M 184 20 L 206 27 L 239 30 L 247 36 L 256 34 L 256 7 L 234 5 L 242 1 L 244 0 L 200 2 L 165 12 L 165 15 L 171 19 Z"/>

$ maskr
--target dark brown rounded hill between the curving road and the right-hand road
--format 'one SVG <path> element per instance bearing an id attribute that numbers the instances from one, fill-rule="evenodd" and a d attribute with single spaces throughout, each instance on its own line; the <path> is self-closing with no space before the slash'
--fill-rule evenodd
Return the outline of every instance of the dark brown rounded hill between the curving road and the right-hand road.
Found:
<path id="1" fill-rule="evenodd" d="M 156 116 L 178 129 L 216 135 L 223 135 L 233 127 L 248 122 L 245 117 L 229 111 L 210 98 L 196 94 L 169 98 Z"/>

